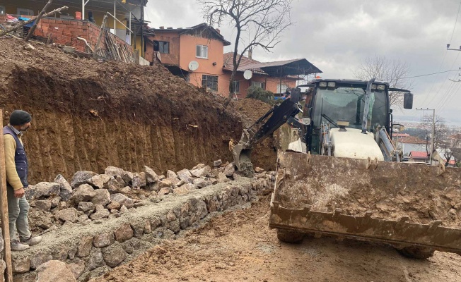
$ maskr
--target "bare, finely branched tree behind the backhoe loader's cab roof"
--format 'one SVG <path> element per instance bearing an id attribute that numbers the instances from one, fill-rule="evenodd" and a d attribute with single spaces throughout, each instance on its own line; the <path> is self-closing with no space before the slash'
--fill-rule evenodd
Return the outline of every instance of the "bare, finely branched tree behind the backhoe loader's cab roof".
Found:
<path id="1" fill-rule="evenodd" d="M 375 55 L 361 60 L 361 65 L 354 71 L 356 78 L 370 80 L 376 78 L 389 82 L 390 87 L 411 90 L 412 80 L 409 76 L 409 65 L 399 60 L 388 60 L 385 56 Z M 389 93 L 390 105 L 402 108 L 404 92 L 391 91 Z"/>

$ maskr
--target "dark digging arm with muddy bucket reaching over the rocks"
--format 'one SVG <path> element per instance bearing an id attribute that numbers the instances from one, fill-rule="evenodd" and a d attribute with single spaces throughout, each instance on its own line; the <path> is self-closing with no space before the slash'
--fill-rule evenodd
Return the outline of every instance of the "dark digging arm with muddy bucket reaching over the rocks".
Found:
<path id="1" fill-rule="evenodd" d="M 287 92 L 290 94 L 290 98 L 285 99 L 279 106 L 274 106 L 249 128 L 245 128 L 240 141 L 233 147 L 234 164 L 239 171 L 243 171 L 245 176 L 251 176 L 253 173 L 250 161 L 253 146 L 274 133 L 277 128 L 288 121 L 288 118 L 299 113 L 300 89 L 292 88 Z"/>

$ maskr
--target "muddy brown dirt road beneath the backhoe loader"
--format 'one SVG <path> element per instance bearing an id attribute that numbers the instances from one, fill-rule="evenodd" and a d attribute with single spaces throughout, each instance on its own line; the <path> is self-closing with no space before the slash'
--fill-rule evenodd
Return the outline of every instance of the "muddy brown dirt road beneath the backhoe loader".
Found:
<path id="1" fill-rule="evenodd" d="M 392 247 L 329 238 L 279 243 L 269 199 L 227 212 L 95 281 L 461 281 L 461 257 L 407 259 Z"/>

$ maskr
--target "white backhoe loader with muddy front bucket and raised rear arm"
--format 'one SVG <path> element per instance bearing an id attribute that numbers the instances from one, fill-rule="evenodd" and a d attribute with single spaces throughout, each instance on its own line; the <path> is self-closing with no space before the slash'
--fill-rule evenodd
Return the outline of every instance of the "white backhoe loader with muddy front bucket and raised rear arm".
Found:
<path id="1" fill-rule="evenodd" d="M 253 173 L 252 148 L 284 123 L 298 138 L 278 152 L 269 227 L 279 240 L 305 235 L 387 243 L 408 257 L 461 254 L 461 171 L 402 162 L 392 143 L 389 92 L 413 94 L 373 78 L 317 79 L 300 106 L 300 87 L 243 130 L 234 164 Z M 300 116 L 302 114 L 302 116 Z M 299 117 L 300 116 L 300 117 Z"/>

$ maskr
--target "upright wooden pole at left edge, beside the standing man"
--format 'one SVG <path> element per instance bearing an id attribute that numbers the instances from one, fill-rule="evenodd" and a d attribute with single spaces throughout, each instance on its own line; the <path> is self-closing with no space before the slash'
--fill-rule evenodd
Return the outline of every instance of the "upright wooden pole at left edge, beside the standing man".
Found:
<path id="1" fill-rule="evenodd" d="M 3 128 L 4 113 L 0 109 L 0 125 Z M 6 262 L 6 280 L 13 282 L 13 264 L 11 264 L 10 226 L 8 223 L 8 199 L 6 196 L 6 171 L 5 171 L 5 146 L 4 134 L 0 137 L 0 216 L 1 233 L 4 236 L 5 250 L 4 261 Z"/>

